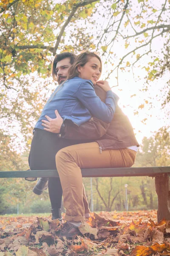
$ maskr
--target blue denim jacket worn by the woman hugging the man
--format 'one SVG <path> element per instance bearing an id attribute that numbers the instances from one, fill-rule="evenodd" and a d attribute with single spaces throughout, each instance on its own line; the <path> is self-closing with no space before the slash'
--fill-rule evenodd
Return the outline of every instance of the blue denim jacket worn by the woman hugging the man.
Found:
<path id="1" fill-rule="evenodd" d="M 42 119 L 46 120 L 45 115 L 56 118 L 54 113 L 58 110 L 60 116 L 70 119 L 77 125 L 82 125 L 91 119 L 91 116 L 110 123 L 116 109 L 119 97 L 112 91 L 107 92 L 105 103 L 96 96 L 91 80 L 74 77 L 65 81 L 59 88 L 51 94 L 50 99 L 45 104 L 41 116 L 35 128 L 43 129 Z"/>

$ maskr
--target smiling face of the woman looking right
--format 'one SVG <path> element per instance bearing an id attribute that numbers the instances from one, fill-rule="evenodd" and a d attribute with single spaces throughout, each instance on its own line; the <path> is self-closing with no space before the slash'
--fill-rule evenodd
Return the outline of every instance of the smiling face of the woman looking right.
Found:
<path id="1" fill-rule="evenodd" d="M 83 67 L 77 67 L 77 70 L 80 78 L 91 80 L 93 84 L 96 84 L 101 75 L 101 64 L 98 58 L 90 57 L 88 62 Z"/>

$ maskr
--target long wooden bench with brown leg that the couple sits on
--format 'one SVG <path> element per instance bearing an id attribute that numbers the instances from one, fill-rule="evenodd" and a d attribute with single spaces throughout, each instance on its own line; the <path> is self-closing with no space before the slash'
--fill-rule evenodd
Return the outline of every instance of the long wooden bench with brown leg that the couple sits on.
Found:
<path id="1" fill-rule="evenodd" d="M 166 218 L 170 220 L 170 166 L 82 169 L 82 177 L 127 177 L 151 176 L 155 177 L 156 193 L 158 195 L 158 222 Z M 59 177 L 57 170 L 29 170 L 0 172 L 0 178 L 24 177 Z"/>

